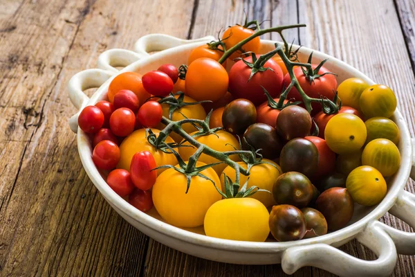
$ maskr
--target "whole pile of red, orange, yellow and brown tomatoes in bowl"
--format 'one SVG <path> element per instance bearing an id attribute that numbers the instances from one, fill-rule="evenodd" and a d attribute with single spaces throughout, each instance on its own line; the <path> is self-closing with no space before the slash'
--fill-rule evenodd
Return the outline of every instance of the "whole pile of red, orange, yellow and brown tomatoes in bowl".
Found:
<path id="1" fill-rule="evenodd" d="M 167 223 L 183 228 L 203 225 L 206 235 L 216 238 L 264 242 L 271 233 L 277 241 L 288 241 L 341 229 L 351 220 L 355 204 L 382 201 L 385 177 L 400 166 L 400 132 L 389 119 L 396 109 L 394 92 L 360 78 L 338 85 L 335 74 L 322 64 L 312 64 L 312 73 L 296 66 L 293 73 L 308 96 L 333 100 L 337 91 L 342 105 L 337 113 L 325 114 L 322 104 L 313 102 L 310 114 L 292 87 L 287 98 L 292 101 L 284 100 L 285 107 L 276 109 L 279 95 L 291 82 L 281 57 L 259 64 L 255 54 L 230 60 L 240 56 L 234 52 L 221 61 L 224 49 L 254 33 L 243 26 L 230 27 L 223 44 L 199 46 L 190 53 L 185 74 L 163 64 L 145 75 L 117 75 L 108 99 L 84 108 L 79 116 L 80 128 L 91 134 L 92 159 L 108 173 L 108 185 L 140 211 L 154 206 Z M 255 53 L 260 44 L 255 37 L 243 51 Z M 227 63 L 233 64 L 229 73 Z M 163 101 L 166 97 L 178 101 L 172 113 L 172 101 Z M 292 105 L 293 101 L 299 102 Z M 147 140 L 149 132 L 158 136 L 165 127 L 163 117 L 205 120 L 208 114 L 214 131 L 201 134 L 201 126 L 192 123 L 181 129 L 216 152 L 255 153 L 255 163 L 241 159 L 238 152 L 229 159 L 249 172 L 240 175 L 239 189 L 246 184 L 244 189 L 259 188 L 257 193 L 223 197 L 218 190 L 229 189 L 225 184 L 237 179 L 236 171 L 205 152 L 196 167 L 217 164 L 193 175 L 187 186 L 187 177 L 177 170 L 183 165 L 174 154 Z M 197 150 L 176 132 L 164 141 L 176 143 L 185 163 Z"/>

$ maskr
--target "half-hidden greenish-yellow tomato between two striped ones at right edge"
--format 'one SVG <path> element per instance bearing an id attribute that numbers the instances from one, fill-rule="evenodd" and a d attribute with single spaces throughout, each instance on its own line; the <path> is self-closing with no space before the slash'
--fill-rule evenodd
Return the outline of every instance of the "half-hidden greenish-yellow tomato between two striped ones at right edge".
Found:
<path id="1" fill-rule="evenodd" d="M 366 143 L 374 139 L 389 139 L 389 141 L 398 144 L 400 132 L 394 121 L 385 117 L 373 117 L 365 121 L 367 129 Z"/>

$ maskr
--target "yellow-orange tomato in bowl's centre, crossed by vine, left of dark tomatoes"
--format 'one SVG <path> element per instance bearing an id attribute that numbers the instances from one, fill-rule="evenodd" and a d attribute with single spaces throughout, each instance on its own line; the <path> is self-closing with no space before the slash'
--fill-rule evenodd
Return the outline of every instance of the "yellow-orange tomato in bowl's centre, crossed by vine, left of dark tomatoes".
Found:
<path id="1" fill-rule="evenodd" d="M 239 142 L 235 137 L 223 130 L 216 132 L 215 134 L 208 134 L 207 136 L 196 136 L 196 141 L 199 141 L 199 143 L 202 143 L 213 150 L 220 151 L 220 152 L 226 152 L 226 151 L 234 151 L 235 148 L 239 150 Z M 195 148 L 192 144 L 190 144 L 188 141 L 185 143 L 182 143 L 183 145 L 191 145 L 192 147 L 181 147 L 178 148 L 178 152 L 183 158 L 184 161 L 187 161 L 194 152 L 196 152 L 197 148 Z M 233 147 L 232 147 L 233 146 Z M 238 155 L 230 155 L 229 156 L 232 161 L 240 161 Z M 211 157 L 207 154 L 201 154 L 201 157 L 199 157 L 199 160 L 203 163 L 217 163 L 219 160 Z M 219 165 L 213 166 L 212 168 L 218 175 L 221 175 L 221 172 L 225 169 L 226 164 L 221 163 Z"/>

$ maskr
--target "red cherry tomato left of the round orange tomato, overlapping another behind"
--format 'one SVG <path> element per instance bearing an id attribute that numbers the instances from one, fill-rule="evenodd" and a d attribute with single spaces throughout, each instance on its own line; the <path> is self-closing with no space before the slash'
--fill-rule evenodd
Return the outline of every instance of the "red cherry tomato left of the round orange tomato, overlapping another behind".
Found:
<path id="1" fill-rule="evenodd" d="M 148 93 L 160 97 L 168 96 L 174 87 L 172 79 L 162 71 L 145 73 L 142 76 L 142 85 Z"/>

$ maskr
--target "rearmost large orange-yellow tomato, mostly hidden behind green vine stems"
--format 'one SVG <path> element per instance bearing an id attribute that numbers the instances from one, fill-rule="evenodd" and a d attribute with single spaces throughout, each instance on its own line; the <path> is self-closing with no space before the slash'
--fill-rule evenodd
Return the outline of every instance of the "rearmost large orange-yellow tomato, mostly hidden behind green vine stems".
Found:
<path id="1" fill-rule="evenodd" d="M 174 96 L 174 97 L 178 98 L 178 96 Z M 183 102 L 194 103 L 196 102 L 196 100 L 194 100 L 193 98 L 190 98 L 189 96 L 185 96 L 185 98 L 183 98 Z M 161 107 L 163 107 L 163 116 L 166 118 L 169 118 L 169 105 L 162 104 Z M 203 109 L 201 104 L 196 104 L 196 105 L 183 106 L 180 109 L 176 109 L 176 111 L 173 112 L 173 116 L 172 116 L 173 121 L 178 121 L 178 120 L 182 120 L 185 118 L 204 120 L 206 118 L 205 109 Z M 159 129 L 163 129 L 165 125 L 160 123 L 157 127 Z M 194 127 L 191 123 L 185 123 L 181 125 L 181 127 L 187 134 L 197 131 L 196 127 Z M 176 143 L 180 143 L 183 140 L 183 138 L 179 134 L 176 134 L 175 132 L 170 133 L 170 136 L 172 137 L 172 139 L 174 139 L 174 141 L 176 141 Z"/>

